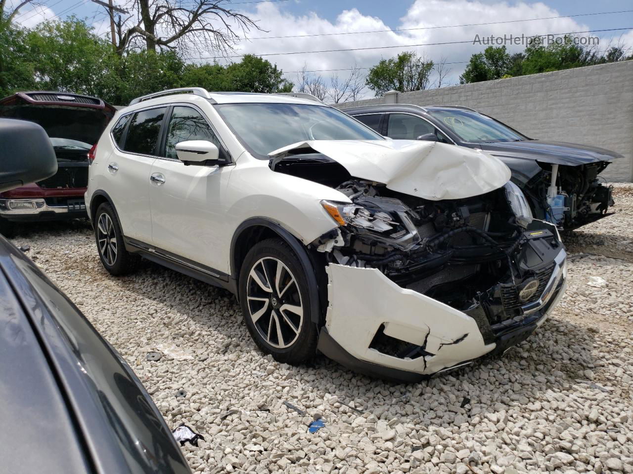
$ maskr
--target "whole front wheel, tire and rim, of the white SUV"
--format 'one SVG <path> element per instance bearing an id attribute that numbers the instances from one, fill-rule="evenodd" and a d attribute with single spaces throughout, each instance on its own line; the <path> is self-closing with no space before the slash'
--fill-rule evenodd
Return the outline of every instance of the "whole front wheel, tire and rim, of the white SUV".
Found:
<path id="1" fill-rule="evenodd" d="M 299 258 L 280 239 L 256 243 L 239 276 L 244 323 L 258 347 L 278 362 L 299 365 L 316 353 L 311 292 Z"/>

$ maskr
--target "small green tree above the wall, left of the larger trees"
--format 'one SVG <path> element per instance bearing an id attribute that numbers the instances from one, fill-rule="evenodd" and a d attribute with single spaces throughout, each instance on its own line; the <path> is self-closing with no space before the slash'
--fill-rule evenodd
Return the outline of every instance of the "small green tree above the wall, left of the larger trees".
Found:
<path id="1" fill-rule="evenodd" d="M 411 92 L 429 87 L 429 76 L 433 70 L 433 61 L 418 58 L 415 52 L 407 51 L 396 58 L 380 59 L 369 70 L 367 87 L 375 94 L 382 95 L 388 90 Z"/>

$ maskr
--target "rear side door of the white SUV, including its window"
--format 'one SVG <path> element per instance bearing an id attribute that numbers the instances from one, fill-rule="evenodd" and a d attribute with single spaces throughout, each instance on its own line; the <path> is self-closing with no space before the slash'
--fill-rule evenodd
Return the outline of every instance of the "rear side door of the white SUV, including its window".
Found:
<path id="1" fill-rule="evenodd" d="M 117 146 L 107 164 L 107 191 L 117 209 L 123 234 L 148 244 L 152 243 L 149 178 L 166 112 L 167 107 L 163 106 L 123 116 L 112 129 Z"/>

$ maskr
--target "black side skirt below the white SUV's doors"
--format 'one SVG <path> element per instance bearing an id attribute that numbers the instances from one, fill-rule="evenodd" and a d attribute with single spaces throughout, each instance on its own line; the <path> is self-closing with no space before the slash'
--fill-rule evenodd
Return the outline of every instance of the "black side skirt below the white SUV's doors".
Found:
<path id="1" fill-rule="evenodd" d="M 128 252 L 139 253 L 143 258 L 163 265 L 163 267 L 175 270 L 204 283 L 227 289 L 234 295 L 237 293 L 237 282 L 235 279 L 219 270 L 198 264 L 189 260 L 189 258 L 180 257 L 180 255 L 156 248 L 140 240 L 123 236 L 123 242 L 125 243 L 125 250 Z"/>

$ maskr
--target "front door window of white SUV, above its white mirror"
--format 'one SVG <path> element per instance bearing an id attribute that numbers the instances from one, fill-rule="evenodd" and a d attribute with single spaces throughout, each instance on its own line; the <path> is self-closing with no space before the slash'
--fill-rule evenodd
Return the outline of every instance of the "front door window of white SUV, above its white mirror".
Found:
<path id="1" fill-rule="evenodd" d="M 177 159 L 176 144 L 187 140 L 206 140 L 212 142 L 220 150 L 220 158 L 225 157 L 222 143 L 218 140 L 208 122 L 196 109 L 192 107 L 173 107 L 172 118 L 167 128 L 165 141 L 165 156 Z"/>

